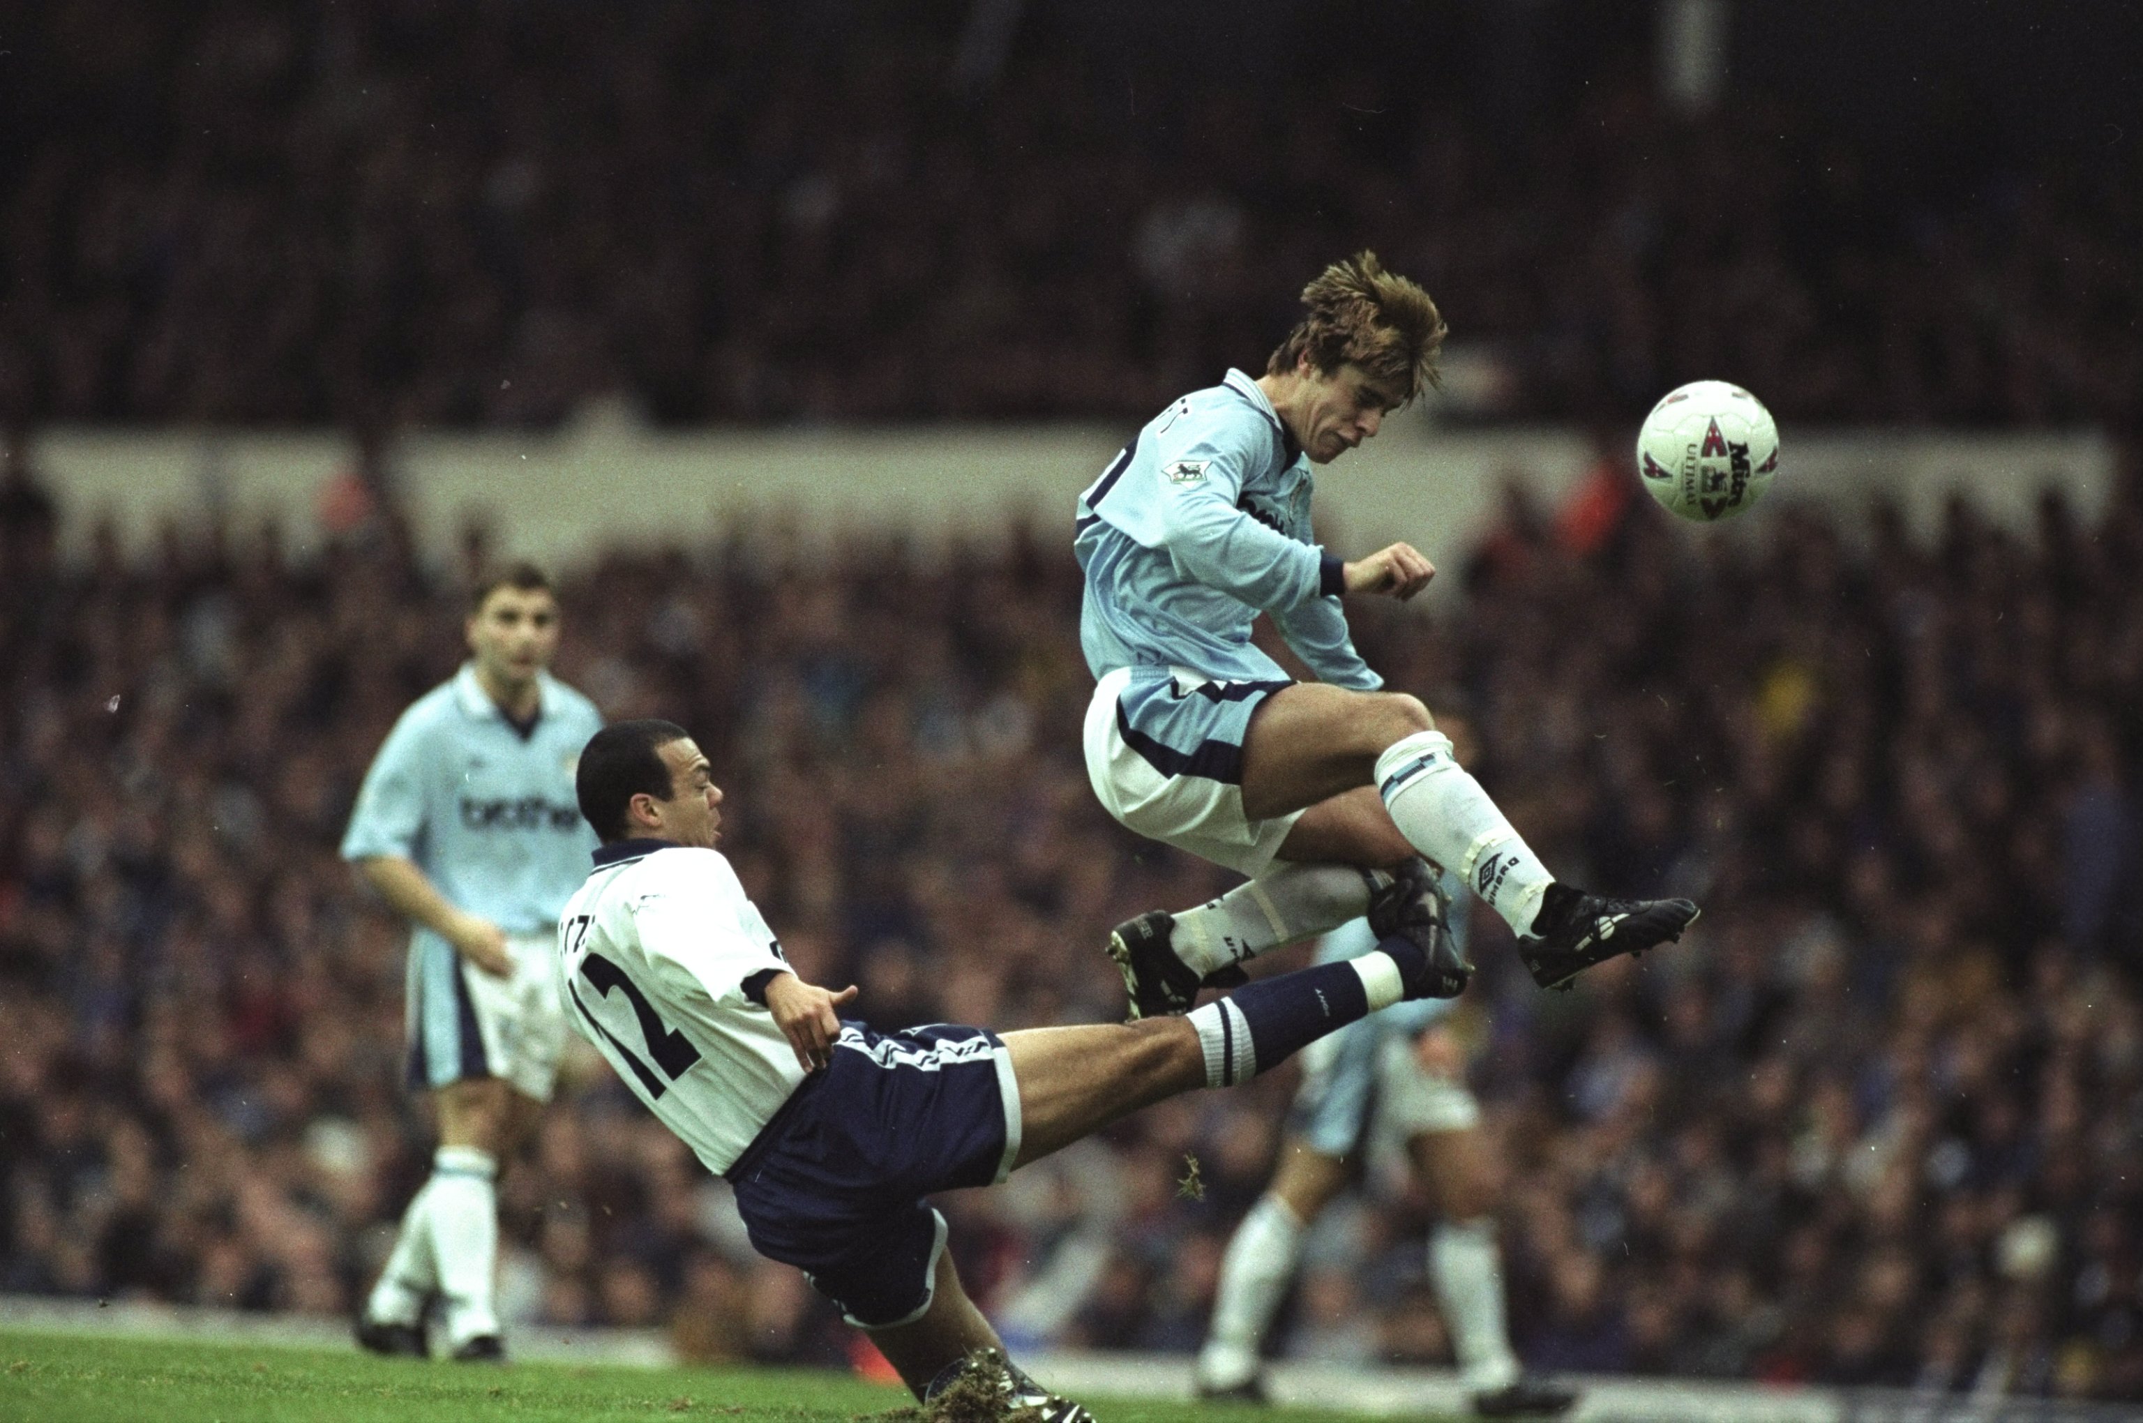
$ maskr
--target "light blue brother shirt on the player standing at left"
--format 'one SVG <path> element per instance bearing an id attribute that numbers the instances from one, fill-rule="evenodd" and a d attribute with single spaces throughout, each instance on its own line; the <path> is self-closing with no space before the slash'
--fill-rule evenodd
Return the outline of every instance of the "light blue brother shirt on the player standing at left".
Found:
<path id="1" fill-rule="evenodd" d="M 364 774 L 343 859 L 399 855 L 508 934 L 555 930 L 596 849 L 572 772 L 602 714 L 549 673 L 538 696 L 527 731 L 506 720 L 474 664 L 416 699 Z M 424 943 L 446 945 L 418 928 Z"/>

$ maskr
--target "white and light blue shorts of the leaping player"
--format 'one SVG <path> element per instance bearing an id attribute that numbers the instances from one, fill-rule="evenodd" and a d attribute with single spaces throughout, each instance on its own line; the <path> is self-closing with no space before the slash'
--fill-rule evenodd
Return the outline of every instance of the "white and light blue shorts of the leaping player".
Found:
<path id="1" fill-rule="evenodd" d="M 1243 814 L 1241 780 L 1183 767 L 1215 761 L 1200 763 L 1200 748 L 1219 750 L 1217 761 L 1232 748 L 1239 774 L 1249 716 L 1279 686 L 1286 684 L 1211 681 L 1185 669 L 1119 666 L 1108 673 L 1087 703 L 1087 780 L 1095 797 L 1149 840 L 1239 874 L 1258 874 L 1273 864 L 1303 812 L 1252 821 Z M 1215 688 L 1222 694 L 1215 696 Z M 1138 750 L 1127 731 L 1149 750 Z M 1162 769 L 1155 757 L 1174 769 Z"/>

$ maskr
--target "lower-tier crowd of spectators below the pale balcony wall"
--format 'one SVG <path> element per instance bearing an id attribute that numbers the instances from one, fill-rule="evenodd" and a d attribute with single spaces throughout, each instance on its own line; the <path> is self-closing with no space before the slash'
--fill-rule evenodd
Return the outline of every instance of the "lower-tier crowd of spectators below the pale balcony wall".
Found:
<path id="1" fill-rule="evenodd" d="M 1959 504 L 1935 540 L 1781 501 L 1736 540 L 1513 491 L 1434 617 L 1357 613 L 1549 864 L 1706 904 L 1573 994 L 1474 919 L 1457 1024 L 1532 1365 L 2143 1399 L 2139 495 L 2025 534 Z M 60 566 L 62 516 L 0 480 L 0 1292 L 349 1312 L 429 1132 L 405 934 L 336 838 L 459 662 L 482 540 L 420 566 L 388 506 L 313 561 L 189 529 Z M 699 735 L 746 887 L 864 1018 L 1106 1020 L 1108 926 L 1226 877 L 1093 802 L 1065 544 L 615 553 L 566 585 L 559 671 Z M 1016 1344 L 1192 1348 L 1290 1089 L 947 1198 L 971 1288 Z M 501 1202 L 510 1333 L 849 1348 L 591 1054 Z M 1425 1228 L 1372 1162 L 1275 1350 L 1444 1359 Z"/>

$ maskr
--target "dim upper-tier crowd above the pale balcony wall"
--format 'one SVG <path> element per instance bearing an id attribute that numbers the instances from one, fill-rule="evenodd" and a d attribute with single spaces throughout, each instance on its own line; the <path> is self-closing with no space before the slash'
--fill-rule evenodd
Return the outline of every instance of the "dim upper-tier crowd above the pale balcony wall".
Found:
<path id="1" fill-rule="evenodd" d="M 1794 420 L 2143 414 L 2117 124 L 1899 165 L 1764 94 L 1676 116 L 1642 28 L 1522 122 L 1524 73 L 1455 81 L 1526 66 L 1464 9 L 1183 21 L 1119 41 L 1138 66 L 1050 6 L 992 45 L 1020 6 L 966 0 L 28 6 L 0 416 L 1142 420 L 1365 244 L 1442 300 L 1472 414 L 1714 375 Z M 1194 62 L 1228 43 L 1267 54 Z"/>

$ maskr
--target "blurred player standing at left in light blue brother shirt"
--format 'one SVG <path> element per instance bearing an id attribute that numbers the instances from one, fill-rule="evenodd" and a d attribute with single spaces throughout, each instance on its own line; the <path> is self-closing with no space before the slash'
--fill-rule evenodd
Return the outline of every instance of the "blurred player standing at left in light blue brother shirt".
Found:
<path id="1" fill-rule="evenodd" d="M 343 859 L 414 926 L 409 1084 L 439 1110 L 431 1179 L 358 1316 L 358 1342 L 424 1357 L 444 1305 L 448 1352 L 504 1359 L 493 1309 L 499 1162 L 551 1099 L 566 1042 L 557 911 L 596 838 L 572 769 L 602 727 L 546 666 L 557 596 L 538 568 L 476 589 L 469 662 L 416 701 L 373 759 Z"/>

